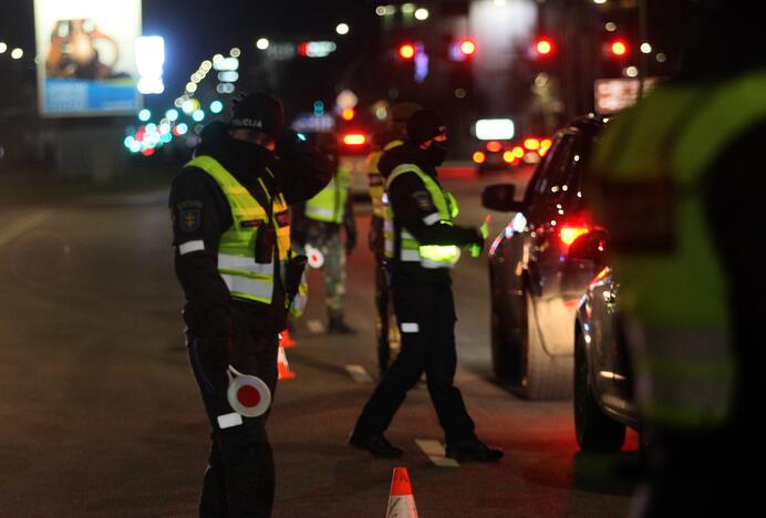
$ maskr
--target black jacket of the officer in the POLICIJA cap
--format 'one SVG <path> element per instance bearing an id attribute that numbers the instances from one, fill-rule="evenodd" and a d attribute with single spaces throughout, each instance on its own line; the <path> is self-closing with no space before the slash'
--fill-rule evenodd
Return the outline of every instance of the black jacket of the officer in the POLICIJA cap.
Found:
<path id="1" fill-rule="evenodd" d="M 303 201 L 319 193 L 332 177 L 327 158 L 292 132 L 277 141 L 276 153 L 235 141 L 224 123 L 209 124 L 201 134 L 195 156 L 218 160 L 253 197 L 266 206 L 258 178 L 271 195 L 281 191 L 288 204 Z M 266 172 L 269 168 L 276 182 Z M 228 343 L 232 335 L 231 311 L 248 315 L 265 332 L 284 329 L 284 289 L 275 283 L 271 304 L 232 300 L 218 274 L 218 244 L 234 219 L 228 200 L 216 180 L 196 167 L 185 168 L 173 182 L 169 197 L 173 219 L 175 270 L 184 289 L 184 320 L 187 332 L 215 344 Z M 184 244 L 204 244 L 204 250 L 180 255 Z M 278 276 L 275 276 L 278 278 Z"/>

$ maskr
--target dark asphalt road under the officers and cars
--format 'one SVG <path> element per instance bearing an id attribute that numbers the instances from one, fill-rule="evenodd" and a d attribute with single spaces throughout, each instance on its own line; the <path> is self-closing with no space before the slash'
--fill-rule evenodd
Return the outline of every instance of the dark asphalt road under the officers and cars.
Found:
<path id="1" fill-rule="evenodd" d="M 449 178 L 477 224 L 487 178 Z M 41 189 L 52 189 L 45 184 Z M 13 185 L 2 196 L 13 199 Z M 3 204 L 0 224 L 0 516 L 189 517 L 206 459 L 207 423 L 182 339 L 166 189 L 34 196 Z M 360 236 L 369 207 L 359 206 Z M 494 221 L 494 229 L 503 221 Z M 439 467 L 416 439 L 443 441 L 425 386 L 390 432 L 402 459 L 377 460 L 345 439 L 372 390 L 372 258 L 349 261 L 354 338 L 317 331 L 311 276 L 298 379 L 280 383 L 269 433 L 275 517 L 381 517 L 391 475 L 406 466 L 424 517 L 623 517 L 639 466 L 635 436 L 618 455 L 578 453 L 571 402 L 526 402 L 490 375 L 485 259 L 455 272 L 457 385 L 479 436 L 505 448 L 496 465 Z"/>

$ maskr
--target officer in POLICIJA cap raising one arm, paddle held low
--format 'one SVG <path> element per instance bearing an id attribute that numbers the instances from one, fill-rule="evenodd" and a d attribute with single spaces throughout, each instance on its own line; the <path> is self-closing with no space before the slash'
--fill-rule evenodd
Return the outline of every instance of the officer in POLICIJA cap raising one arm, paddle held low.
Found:
<path id="1" fill-rule="evenodd" d="M 294 291 L 283 282 L 288 204 L 312 197 L 331 177 L 327 159 L 282 127 L 279 101 L 244 97 L 228 125 L 205 127 L 170 189 L 189 360 L 213 426 L 203 517 L 268 517 L 273 504 L 266 415 L 234 413 L 226 391 L 235 371 L 276 388 L 277 336 L 286 293 Z"/>

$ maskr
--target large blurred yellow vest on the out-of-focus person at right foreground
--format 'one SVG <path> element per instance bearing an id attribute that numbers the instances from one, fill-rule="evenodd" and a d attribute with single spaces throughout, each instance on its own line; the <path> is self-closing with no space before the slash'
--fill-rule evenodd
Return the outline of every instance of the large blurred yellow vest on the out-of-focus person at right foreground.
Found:
<path id="1" fill-rule="evenodd" d="M 704 428 L 731 412 L 729 287 L 702 183 L 737 138 L 764 122 L 766 70 L 661 85 L 618 115 L 597 147 L 589 196 L 599 222 L 621 236 L 610 245 L 621 310 L 661 331 L 634 352 L 639 382 L 651 386 L 639 407 L 654 423 Z M 696 330 L 697 346 L 673 338 L 675 330 Z"/>

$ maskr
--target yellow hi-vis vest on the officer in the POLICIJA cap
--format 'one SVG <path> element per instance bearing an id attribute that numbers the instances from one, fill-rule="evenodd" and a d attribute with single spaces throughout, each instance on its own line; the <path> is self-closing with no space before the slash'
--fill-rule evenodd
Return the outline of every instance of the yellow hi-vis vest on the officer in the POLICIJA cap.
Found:
<path id="1" fill-rule="evenodd" d="M 184 167 L 197 167 L 210 175 L 221 188 L 231 208 L 234 222 L 220 236 L 218 246 L 218 272 L 226 282 L 230 296 L 266 304 L 271 303 L 273 256 L 270 262 L 256 262 L 256 236 L 261 227 L 268 225 L 267 210 L 215 158 L 198 156 Z M 284 261 L 290 250 L 288 206 L 281 194 L 271 197 L 260 179 L 259 185 L 266 198 L 272 204 L 271 222 L 277 236 L 275 245 L 279 260 Z M 281 271 L 284 271 L 284 268 L 281 268 Z"/>

